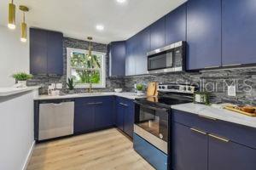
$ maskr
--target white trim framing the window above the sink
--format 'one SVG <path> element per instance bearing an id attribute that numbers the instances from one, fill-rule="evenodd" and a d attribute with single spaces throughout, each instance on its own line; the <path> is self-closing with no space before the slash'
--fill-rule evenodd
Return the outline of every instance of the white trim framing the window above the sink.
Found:
<path id="1" fill-rule="evenodd" d="M 67 48 L 67 80 L 68 78 L 71 77 L 71 66 L 70 66 L 70 59 L 71 59 L 71 53 L 72 52 L 78 52 L 78 53 L 88 53 L 88 50 L 85 49 L 77 49 L 77 48 Z M 102 84 L 92 84 L 92 88 L 106 88 L 106 54 L 97 52 L 97 51 L 92 51 L 92 54 L 100 54 L 103 56 L 102 58 L 102 74 L 101 74 L 101 80 Z M 75 85 L 74 88 L 89 88 L 89 84 L 77 84 Z"/>

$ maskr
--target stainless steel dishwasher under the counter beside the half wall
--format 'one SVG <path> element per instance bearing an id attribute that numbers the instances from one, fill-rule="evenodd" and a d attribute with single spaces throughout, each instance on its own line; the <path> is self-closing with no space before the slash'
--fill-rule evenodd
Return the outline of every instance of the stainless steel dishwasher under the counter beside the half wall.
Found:
<path id="1" fill-rule="evenodd" d="M 38 140 L 73 134 L 74 102 L 44 101 L 39 105 Z"/>

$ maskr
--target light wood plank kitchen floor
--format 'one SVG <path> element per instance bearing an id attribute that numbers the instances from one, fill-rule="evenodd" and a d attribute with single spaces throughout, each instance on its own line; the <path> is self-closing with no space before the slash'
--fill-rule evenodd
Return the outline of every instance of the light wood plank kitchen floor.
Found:
<path id="1" fill-rule="evenodd" d="M 27 170 L 153 170 L 115 128 L 37 144 Z"/>

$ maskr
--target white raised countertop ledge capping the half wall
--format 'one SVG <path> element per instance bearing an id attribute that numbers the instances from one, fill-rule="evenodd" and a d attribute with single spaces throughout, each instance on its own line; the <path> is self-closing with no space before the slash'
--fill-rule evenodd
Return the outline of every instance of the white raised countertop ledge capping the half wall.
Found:
<path id="1" fill-rule="evenodd" d="M 28 91 L 32 91 L 38 89 L 40 87 L 26 87 L 26 88 L 0 88 L 0 97 L 6 97 L 9 95 L 15 95 L 20 93 L 25 93 Z"/>

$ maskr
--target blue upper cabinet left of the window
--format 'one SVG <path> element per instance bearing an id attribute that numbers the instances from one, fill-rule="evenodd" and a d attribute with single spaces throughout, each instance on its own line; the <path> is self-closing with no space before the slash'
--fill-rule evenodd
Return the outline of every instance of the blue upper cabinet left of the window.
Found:
<path id="1" fill-rule="evenodd" d="M 30 72 L 63 75 L 63 34 L 30 29 Z"/>

